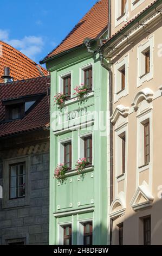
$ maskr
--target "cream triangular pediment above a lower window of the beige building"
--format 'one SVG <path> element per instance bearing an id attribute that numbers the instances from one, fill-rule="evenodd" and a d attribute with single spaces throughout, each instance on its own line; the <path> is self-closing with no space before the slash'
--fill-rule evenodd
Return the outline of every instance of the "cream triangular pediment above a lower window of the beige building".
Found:
<path id="1" fill-rule="evenodd" d="M 138 203 L 138 199 L 140 199 L 141 196 L 145 198 L 145 201 L 142 203 Z M 131 206 L 134 211 L 138 211 L 146 207 L 151 207 L 153 200 L 154 200 L 154 197 L 150 192 L 148 184 L 146 183 L 146 181 L 143 181 L 142 185 L 140 185 L 137 188 L 137 191 L 135 192 L 131 200 Z"/>

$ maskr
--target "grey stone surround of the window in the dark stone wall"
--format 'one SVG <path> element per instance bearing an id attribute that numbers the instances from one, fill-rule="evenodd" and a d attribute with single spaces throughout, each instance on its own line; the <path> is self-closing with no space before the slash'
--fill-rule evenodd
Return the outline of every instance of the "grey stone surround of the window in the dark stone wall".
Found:
<path id="1" fill-rule="evenodd" d="M 25 162 L 25 197 L 9 200 L 9 165 Z M 3 161 L 3 199 L 2 208 L 14 208 L 30 204 L 30 156 L 15 157 Z"/>

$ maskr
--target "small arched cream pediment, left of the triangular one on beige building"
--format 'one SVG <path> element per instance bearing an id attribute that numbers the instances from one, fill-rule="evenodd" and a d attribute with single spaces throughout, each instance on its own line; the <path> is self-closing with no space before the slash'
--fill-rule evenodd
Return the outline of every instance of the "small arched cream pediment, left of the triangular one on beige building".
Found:
<path id="1" fill-rule="evenodd" d="M 116 204 L 120 204 L 121 205 L 121 209 L 114 211 L 114 206 Z M 122 215 L 124 215 L 126 212 L 126 202 L 125 202 L 125 193 L 124 192 L 120 192 L 118 197 L 116 197 L 112 204 L 111 204 L 111 208 L 110 208 L 110 213 L 109 216 L 115 220 L 115 218 L 118 218 Z"/>

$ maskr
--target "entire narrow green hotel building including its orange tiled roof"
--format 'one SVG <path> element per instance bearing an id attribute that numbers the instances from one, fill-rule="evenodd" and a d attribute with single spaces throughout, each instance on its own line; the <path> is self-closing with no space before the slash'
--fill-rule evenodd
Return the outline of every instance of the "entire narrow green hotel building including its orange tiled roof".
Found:
<path id="1" fill-rule="evenodd" d="M 50 245 L 109 243 L 108 71 L 98 51 L 107 22 L 108 0 L 101 0 L 41 61 L 51 74 Z M 85 93 L 74 94 L 81 84 Z M 61 106 L 57 93 L 63 93 Z M 84 157 L 78 172 L 75 164 Z M 58 179 L 60 163 L 67 169 Z"/>

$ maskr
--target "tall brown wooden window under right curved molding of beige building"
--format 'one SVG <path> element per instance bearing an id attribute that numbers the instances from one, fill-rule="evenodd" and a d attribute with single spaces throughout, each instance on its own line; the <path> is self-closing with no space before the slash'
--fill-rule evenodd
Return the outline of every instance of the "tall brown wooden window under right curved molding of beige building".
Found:
<path id="1" fill-rule="evenodd" d="M 144 124 L 144 155 L 145 165 L 150 162 L 150 122 Z"/>

